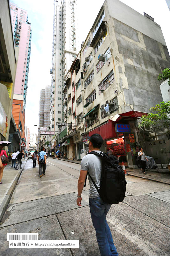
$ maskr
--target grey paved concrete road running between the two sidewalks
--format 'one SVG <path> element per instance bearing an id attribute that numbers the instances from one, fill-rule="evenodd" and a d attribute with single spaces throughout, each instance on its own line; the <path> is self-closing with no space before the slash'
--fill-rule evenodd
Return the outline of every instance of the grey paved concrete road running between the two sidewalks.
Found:
<path id="1" fill-rule="evenodd" d="M 89 182 L 76 204 L 80 165 L 48 158 L 47 172 L 28 160 L 1 224 L 1 255 L 100 255 L 89 211 Z M 126 176 L 123 203 L 107 214 L 119 255 L 169 255 L 169 185 Z M 79 248 L 9 249 L 7 233 L 79 240 Z"/>

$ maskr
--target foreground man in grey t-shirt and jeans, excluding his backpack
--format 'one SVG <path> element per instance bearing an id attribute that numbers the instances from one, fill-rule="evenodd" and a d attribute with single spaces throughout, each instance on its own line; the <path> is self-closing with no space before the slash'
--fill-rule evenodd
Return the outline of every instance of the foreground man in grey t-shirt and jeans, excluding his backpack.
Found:
<path id="1" fill-rule="evenodd" d="M 100 154 L 100 147 L 103 143 L 102 137 L 95 133 L 90 137 L 89 149 L 91 151 L 96 151 Z M 91 175 L 92 179 L 96 183 L 97 187 L 100 189 L 100 177 L 102 162 L 101 157 L 87 154 L 82 158 L 81 161 L 81 171 L 78 179 L 78 198 L 77 205 L 81 206 L 81 193 L 85 183 L 85 177 L 87 171 Z M 118 252 L 113 243 L 112 234 L 110 228 L 106 221 L 106 215 L 111 207 L 111 204 L 104 203 L 100 198 L 92 180 L 88 176 L 90 184 L 89 192 L 89 207 L 92 218 L 93 226 L 96 230 L 96 238 L 99 245 L 99 250 L 101 255 L 118 255 Z"/>

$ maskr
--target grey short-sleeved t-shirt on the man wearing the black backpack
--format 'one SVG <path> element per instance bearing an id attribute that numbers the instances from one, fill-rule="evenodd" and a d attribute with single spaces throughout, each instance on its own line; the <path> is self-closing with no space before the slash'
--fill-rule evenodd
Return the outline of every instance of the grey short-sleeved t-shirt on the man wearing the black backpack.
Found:
<path id="1" fill-rule="evenodd" d="M 94 150 L 97 153 L 100 154 L 100 150 Z M 100 189 L 100 177 L 101 177 L 101 161 L 102 158 L 100 156 L 95 156 L 93 154 L 89 154 L 87 156 L 84 156 L 81 160 L 81 170 L 88 171 L 90 173 L 90 176 L 96 183 L 97 187 Z M 90 192 L 89 197 L 95 198 L 99 196 L 99 193 L 97 192 L 96 188 L 94 187 L 92 180 L 90 179 L 90 176 L 88 175 L 89 183 L 90 183 Z"/>

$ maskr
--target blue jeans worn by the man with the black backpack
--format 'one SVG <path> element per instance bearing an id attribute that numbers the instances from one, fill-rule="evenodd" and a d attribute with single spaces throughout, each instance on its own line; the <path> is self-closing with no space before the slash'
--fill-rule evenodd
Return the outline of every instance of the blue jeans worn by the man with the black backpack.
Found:
<path id="1" fill-rule="evenodd" d="M 96 230 L 96 238 L 101 255 L 119 255 L 113 243 L 112 234 L 106 221 L 111 204 L 106 204 L 99 197 L 89 198 L 92 223 Z"/>

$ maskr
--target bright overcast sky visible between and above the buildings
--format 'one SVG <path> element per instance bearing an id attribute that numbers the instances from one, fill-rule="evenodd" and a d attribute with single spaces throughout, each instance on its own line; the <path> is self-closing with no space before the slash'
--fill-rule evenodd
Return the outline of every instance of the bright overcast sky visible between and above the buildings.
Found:
<path id="1" fill-rule="evenodd" d="M 117 0 L 110 0 L 117 1 Z M 28 89 L 26 96 L 26 123 L 30 132 L 38 133 L 40 90 L 51 85 L 52 39 L 53 39 L 53 0 L 17 0 L 10 1 L 18 7 L 28 11 L 28 21 L 31 23 L 32 41 L 31 57 L 28 75 Z M 124 0 L 137 12 L 144 12 L 154 18 L 161 26 L 169 51 L 169 9 L 165 0 Z M 79 43 L 85 40 L 96 19 L 103 0 L 78 0 L 78 36 Z M 78 49 L 80 49 L 80 45 Z"/>

